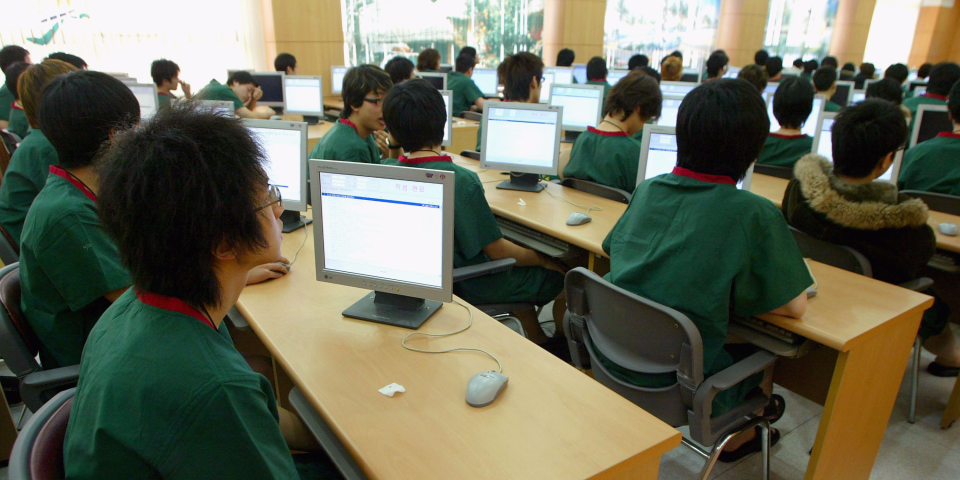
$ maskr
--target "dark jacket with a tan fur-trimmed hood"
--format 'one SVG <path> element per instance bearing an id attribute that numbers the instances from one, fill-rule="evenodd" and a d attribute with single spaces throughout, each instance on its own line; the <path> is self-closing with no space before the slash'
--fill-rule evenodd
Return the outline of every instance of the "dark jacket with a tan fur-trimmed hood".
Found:
<path id="1" fill-rule="evenodd" d="M 937 238 L 927 225 L 927 206 L 900 194 L 896 185 L 851 185 L 833 174 L 826 158 L 809 154 L 797 161 L 783 195 L 787 223 L 806 234 L 851 247 L 870 260 L 873 276 L 903 283 L 920 276 Z"/>

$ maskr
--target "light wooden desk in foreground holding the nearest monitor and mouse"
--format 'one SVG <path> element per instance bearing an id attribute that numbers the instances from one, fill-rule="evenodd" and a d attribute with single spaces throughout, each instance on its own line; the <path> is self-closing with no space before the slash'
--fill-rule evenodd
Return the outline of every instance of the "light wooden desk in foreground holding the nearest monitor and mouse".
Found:
<path id="1" fill-rule="evenodd" d="M 304 230 L 284 236 L 292 255 Z M 483 354 L 407 351 L 411 330 L 340 315 L 365 291 L 316 280 L 313 232 L 284 278 L 246 288 L 237 308 L 369 478 L 656 479 L 680 434 L 507 327 L 474 310 L 473 327 L 413 346 L 483 348 L 510 383 L 473 408 L 467 381 L 495 369 Z M 446 304 L 420 331 L 462 327 Z M 377 392 L 390 383 L 406 393 Z"/>

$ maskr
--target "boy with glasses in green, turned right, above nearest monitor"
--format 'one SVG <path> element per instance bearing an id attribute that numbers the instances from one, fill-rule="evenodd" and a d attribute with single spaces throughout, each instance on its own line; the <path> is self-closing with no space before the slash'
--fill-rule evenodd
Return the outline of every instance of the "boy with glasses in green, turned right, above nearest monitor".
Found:
<path id="1" fill-rule="evenodd" d="M 383 131 L 383 96 L 392 86 L 387 72 L 374 65 L 347 70 L 340 119 L 314 145 L 310 158 L 380 163 L 381 158 L 399 156 L 399 147 L 391 152 Z"/>

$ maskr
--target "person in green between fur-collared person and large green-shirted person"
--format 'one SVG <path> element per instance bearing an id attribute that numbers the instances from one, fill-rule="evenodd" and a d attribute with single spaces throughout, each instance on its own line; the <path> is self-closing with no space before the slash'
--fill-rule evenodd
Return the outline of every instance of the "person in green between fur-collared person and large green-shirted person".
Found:
<path id="1" fill-rule="evenodd" d="M 773 116 L 780 130 L 767 136 L 757 163 L 792 167 L 813 150 L 813 138 L 800 131 L 813 111 L 813 84 L 800 77 L 786 77 L 773 94 Z"/>

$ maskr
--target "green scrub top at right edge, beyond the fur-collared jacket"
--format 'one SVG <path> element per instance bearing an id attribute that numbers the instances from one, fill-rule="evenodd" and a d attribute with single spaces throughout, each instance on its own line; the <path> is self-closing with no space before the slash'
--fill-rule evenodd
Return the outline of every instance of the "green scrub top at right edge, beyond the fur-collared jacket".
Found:
<path id="1" fill-rule="evenodd" d="M 942 132 L 907 150 L 897 186 L 960 196 L 960 134 Z"/>

